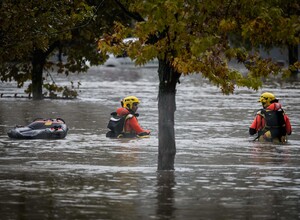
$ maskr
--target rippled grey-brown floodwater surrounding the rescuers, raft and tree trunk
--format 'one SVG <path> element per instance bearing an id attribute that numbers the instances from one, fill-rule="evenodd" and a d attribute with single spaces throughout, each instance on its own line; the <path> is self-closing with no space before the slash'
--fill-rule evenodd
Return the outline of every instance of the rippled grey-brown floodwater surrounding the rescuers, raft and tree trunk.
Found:
<path id="1" fill-rule="evenodd" d="M 76 100 L 0 99 L 0 219 L 300 218 L 299 81 L 224 96 L 199 75 L 182 77 L 175 171 L 158 172 L 156 70 L 97 67 L 70 80 L 82 84 Z M 248 136 L 264 91 L 275 93 L 290 117 L 286 145 Z M 110 113 L 127 95 L 141 99 L 139 122 L 150 138 L 105 137 Z M 38 117 L 63 118 L 67 137 L 8 138 L 10 128 Z"/>

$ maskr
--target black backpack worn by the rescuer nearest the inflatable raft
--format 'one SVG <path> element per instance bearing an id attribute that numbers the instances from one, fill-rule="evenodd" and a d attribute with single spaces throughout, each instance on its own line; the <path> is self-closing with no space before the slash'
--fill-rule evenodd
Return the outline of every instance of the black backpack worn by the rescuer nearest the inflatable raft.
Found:
<path id="1" fill-rule="evenodd" d="M 120 117 L 116 112 L 111 113 L 111 118 L 107 125 L 110 131 L 106 133 L 106 137 L 118 137 L 122 134 L 126 117 L 127 115 Z"/>

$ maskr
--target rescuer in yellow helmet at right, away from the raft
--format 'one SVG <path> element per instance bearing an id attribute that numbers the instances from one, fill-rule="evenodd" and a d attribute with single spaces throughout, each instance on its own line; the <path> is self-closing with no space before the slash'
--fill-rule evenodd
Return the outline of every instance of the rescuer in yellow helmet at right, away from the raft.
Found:
<path id="1" fill-rule="evenodd" d="M 263 142 L 285 143 L 287 135 L 292 133 L 292 127 L 278 99 L 273 93 L 264 92 L 258 102 L 263 108 L 257 112 L 249 128 L 250 135 L 258 133 L 256 139 Z"/>

